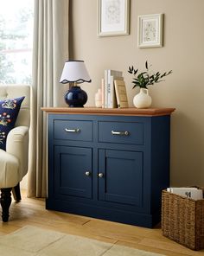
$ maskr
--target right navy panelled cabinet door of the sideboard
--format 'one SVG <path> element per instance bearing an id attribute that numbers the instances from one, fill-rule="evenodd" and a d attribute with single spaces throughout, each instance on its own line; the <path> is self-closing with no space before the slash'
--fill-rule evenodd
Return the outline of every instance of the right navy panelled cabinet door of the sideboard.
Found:
<path id="1" fill-rule="evenodd" d="M 99 150 L 99 200 L 142 206 L 143 152 Z"/>

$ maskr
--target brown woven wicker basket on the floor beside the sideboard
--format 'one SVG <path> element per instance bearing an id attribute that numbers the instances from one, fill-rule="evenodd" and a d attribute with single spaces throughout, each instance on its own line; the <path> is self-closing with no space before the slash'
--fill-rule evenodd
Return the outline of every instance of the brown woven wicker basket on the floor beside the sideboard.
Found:
<path id="1" fill-rule="evenodd" d="M 204 200 L 193 200 L 163 190 L 162 231 L 193 250 L 204 248 Z"/>

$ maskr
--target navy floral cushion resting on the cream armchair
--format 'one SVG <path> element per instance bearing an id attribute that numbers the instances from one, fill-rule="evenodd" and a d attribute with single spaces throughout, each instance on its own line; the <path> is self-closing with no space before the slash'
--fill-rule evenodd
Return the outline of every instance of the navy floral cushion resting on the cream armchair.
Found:
<path id="1" fill-rule="evenodd" d="M 4 99 L 0 101 L 0 149 L 2 150 L 6 149 L 7 135 L 14 128 L 24 98 Z"/>

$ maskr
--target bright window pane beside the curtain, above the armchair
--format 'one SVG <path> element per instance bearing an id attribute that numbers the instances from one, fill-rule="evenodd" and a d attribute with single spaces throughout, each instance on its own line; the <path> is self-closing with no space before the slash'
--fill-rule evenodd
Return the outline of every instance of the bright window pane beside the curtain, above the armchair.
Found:
<path id="1" fill-rule="evenodd" d="M 34 0 L 0 0 L 0 84 L 31 84 L 33 16 Z"/>

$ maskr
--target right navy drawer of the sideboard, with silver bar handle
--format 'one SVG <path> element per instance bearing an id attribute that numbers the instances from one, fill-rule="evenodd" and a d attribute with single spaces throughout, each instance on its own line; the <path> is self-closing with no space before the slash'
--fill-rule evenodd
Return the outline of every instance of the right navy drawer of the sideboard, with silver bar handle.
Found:
<path id="1" fill-rule="evenodd" d="M 99 142 L 143 144 L 143 123 L 101 121 Z"/>

